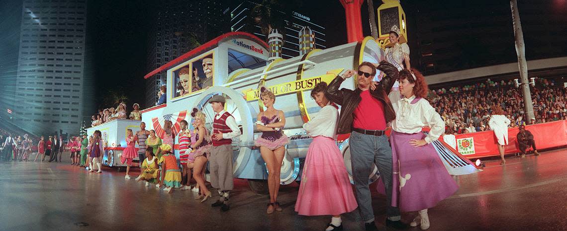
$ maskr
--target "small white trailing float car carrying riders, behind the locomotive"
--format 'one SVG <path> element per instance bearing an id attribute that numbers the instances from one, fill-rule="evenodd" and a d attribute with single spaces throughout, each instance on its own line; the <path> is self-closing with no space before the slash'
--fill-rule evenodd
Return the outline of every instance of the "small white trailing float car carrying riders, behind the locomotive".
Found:
<path id="1" fill-rule="evenodd" d="M 132 129 L 136 133 L 140 129 L 139 120 L 125 120 L 115 119 L 97 125 L 95 127 L 87 128 L 87 136 L 92 136 L 95 130 L 100 130 L 102 134 L 101 140 L 104 143 L 104 153 L 101 156 L 100 162 L 108 167 L 126 167 L 126 163 L 120 163 L 120 155 L 126 148 L 126 132 Z M 138 158 L 134 158 L 138 161 Z"/>

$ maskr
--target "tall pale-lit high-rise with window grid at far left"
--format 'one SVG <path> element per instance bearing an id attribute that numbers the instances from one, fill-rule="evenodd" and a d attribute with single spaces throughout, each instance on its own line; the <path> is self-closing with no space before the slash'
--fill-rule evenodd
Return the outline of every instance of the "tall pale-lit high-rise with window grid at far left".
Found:
<path id="1" fill-rule="evenodd" d="M 86 0 L 24 0 L 13 122 L 77 134 L 83 120 Z"/>

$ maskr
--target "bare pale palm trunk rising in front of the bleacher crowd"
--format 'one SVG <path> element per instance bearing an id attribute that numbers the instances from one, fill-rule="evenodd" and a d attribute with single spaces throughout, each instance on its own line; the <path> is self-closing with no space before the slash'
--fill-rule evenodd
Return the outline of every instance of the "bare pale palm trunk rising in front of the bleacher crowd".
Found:
<path id="1" fill-rule="evenodd" d="M 526 47 L 524 46 L 524 34 L 522 32 L 522 24 L 520 22 L 520 14 L 518 12 L 518 2 L 510 0 L 510 8 L 512 11 L 512 25 L 514 27 L 514 37 L 516 44 L 516 53 L 518 54 L 518 67 L 520 71 L 520 79 L 522 80 L 522 93 L 524 95 L 524 111 L 526 111 L 526 122 L 531 123 L 534 118 L 534 104 L 531 101 L 530 85 L 528 83 L 528 65 L 526 63 Z"/>

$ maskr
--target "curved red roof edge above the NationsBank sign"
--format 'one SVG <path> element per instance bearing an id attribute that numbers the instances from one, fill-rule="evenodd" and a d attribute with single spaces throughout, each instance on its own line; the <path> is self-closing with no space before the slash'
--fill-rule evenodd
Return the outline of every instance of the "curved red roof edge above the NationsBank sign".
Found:
<path id="1" fill-rule="evenodd" d="M 193 56 L 197 56 L 201 53 L 204 53 L 207 50 L 213 49 L 214 47 L 218 46 L 218 43 L 230 40 L 232 38 L 247 38 L 248 40 L 252 40 L 253 42 L 259 43 L 261 46 L 264 46 L 264 48 L 266 50 L 269 50 L 268 44 L 265 41 L 260 40 L 260 38 L 253 36 L 250 33 L 239 32 L 239 31 L 229 32 L 229 33 L 226 33 L 226 34 L 222 34 L 221 36 L 216 37 L 213 40 L 206 42 L 205 44 L 203 44 L 201 46 L 198 46 L 197 48 L 175 58 L 174 60 L 171 60 L 170 62 L 168 62 L 166 64 L 163 64 L 163 66 L 156 68 L 154 71 L 151 71 L 150 73 L 147 73 L 147 75 L 145 75 L 143 78 L 147 79 L 147 78 L 155 75 L 156 73 L 159 73 L 160 71 L 164 71 L 167 68 L 174 66 L 177 63 L 181 63 L 181 62 L 183 62 L 187 59 L 192 58 Z"/>

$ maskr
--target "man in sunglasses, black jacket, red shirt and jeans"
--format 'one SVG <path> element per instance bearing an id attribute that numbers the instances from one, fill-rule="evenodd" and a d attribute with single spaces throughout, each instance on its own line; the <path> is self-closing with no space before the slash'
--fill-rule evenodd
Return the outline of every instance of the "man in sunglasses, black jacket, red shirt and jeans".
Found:
<path id="1" fill-rule="evenodd" d="M 374 84 L 376 69 L 386 76 Z M 358 74 L 357 89 L 339 89 L 342 82 Z M 340 104 L 338 134 L 350 134 L 350 153 L 354 186 L 358 207 L 365 222 L 366 230 L 376 230 L 372 197 L 368 177 L 376 164 L 386 189 L 387 216 L 386 225 L 395 229 L 405 229 L 407 225 L 400 221 L 400 210 L 391 206 L 392 199 L 392 149 L 386 137 L 386 124 L 395 119 L 388 93 L 397 80 L 399 72 L 392 64 L 382 61 L 380 64 L 362 62 L 357 71 L 348 70 L 335 77 L 329 84 L 325 96 Z"/>

